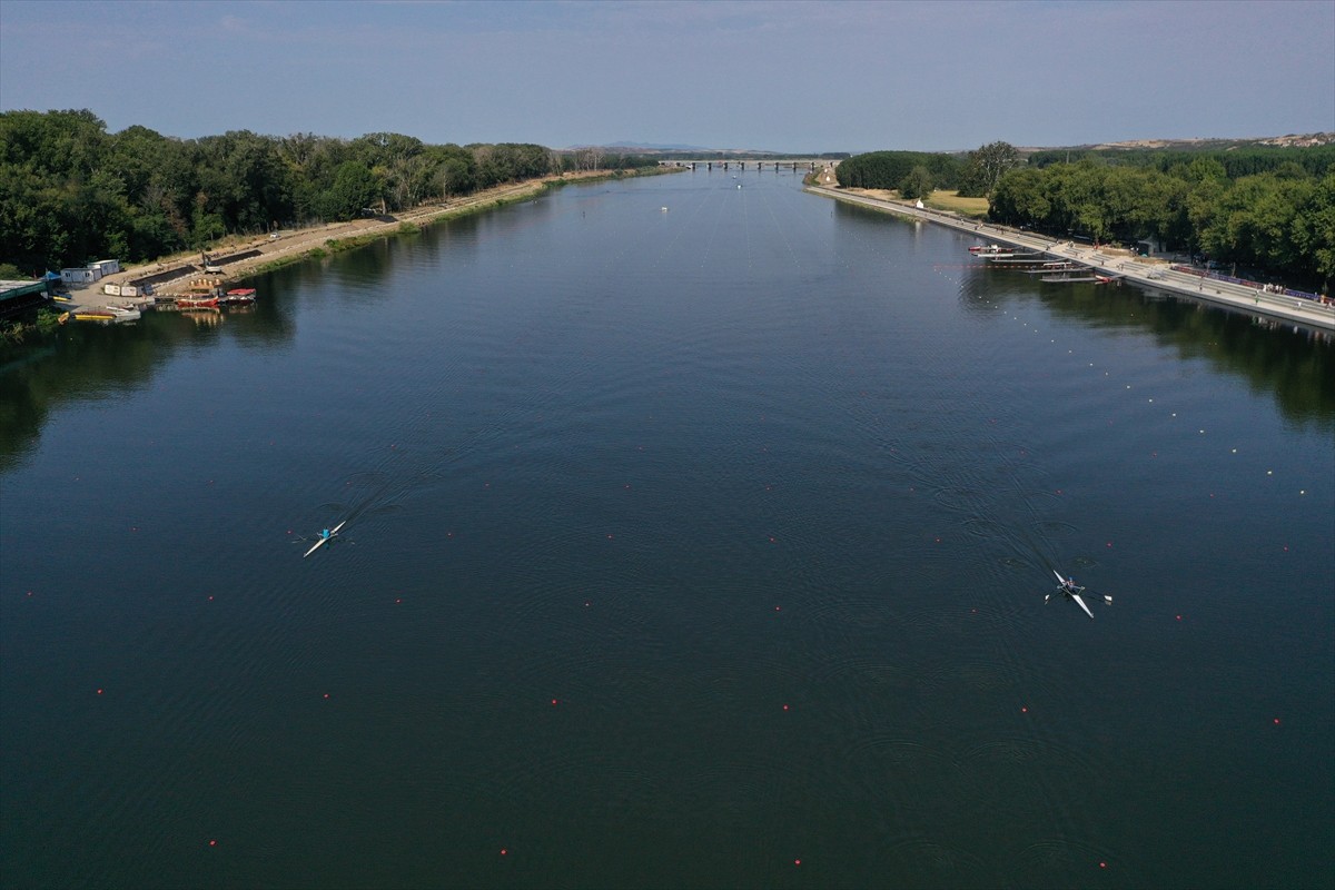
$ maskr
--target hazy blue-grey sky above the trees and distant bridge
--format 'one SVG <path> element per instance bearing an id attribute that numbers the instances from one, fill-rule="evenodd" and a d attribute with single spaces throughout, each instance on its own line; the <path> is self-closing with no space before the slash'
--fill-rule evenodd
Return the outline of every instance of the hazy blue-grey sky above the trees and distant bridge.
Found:
<path id="1" fill-rule="evenodd" d="M 0 0 L 108 132 L 956 151 L 1335 131 L 1335 0 Z"/>

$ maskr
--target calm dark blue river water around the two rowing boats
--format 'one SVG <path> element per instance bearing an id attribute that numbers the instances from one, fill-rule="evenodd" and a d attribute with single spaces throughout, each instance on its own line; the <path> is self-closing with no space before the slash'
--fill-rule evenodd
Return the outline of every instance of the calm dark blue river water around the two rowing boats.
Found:
<path id="1" fill-rule="evenodd" d="M 11 362 L 4 885 L 1332 886 L 1335 347 L 971 243 L 567 187 Z"/>

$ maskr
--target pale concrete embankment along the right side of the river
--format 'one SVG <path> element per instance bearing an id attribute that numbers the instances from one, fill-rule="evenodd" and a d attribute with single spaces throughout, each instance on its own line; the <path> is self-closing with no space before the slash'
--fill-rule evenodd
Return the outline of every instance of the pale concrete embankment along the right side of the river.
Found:
<path id="1" fill-rule="evenodd" d="M 850 204 L 861 204 L 864 207 L 897 213 L 909 219 L 921 219 L 939 226 L 948 226 L 987 242 L 1043 251 L 1055 260 L 1071 260 L 1073 263 L 1080 263 L 1083 266 L 1088 266 L 1100 275 L 1120 276 L 1144 287 L 1159 288 L 1160 291 L 1168 291 L 1171 294 L 1180 294 L 1183 296 L 1210 303 L 1230 306 L 1232 308 L 1268 319 L 1282 319 L 1284 322 L 1295 322 L 1298 324 L 1306 324 L 1323 331 L 1335 331 L 1335 304 L 1322 306 L 1316 300 L 1283 296 L 1280 294 L 1260 291 L 1246 284 L 1203 278 L 1191 272 L 1180 272 L 1164 262 L 1144 260 L 1132 256 L 1117 256 L 1101 252 L 1093 247 L 1076 246 L 1069 242 L 1053 242 L 1051 238 L 1019 232 L 1004 226 L 979 223 L 977 220 L 964 219 L 943 211 L 917 208 L 912 204 L 901 201 L 884 200 L 880 197 L 870 197 L 868 195 L 856 195 L 838 188 L 826 188 L 824 185 L 808 185 L 806 191 L 816 195 L 825 195 L 836 200 L 848 201 Z"/>

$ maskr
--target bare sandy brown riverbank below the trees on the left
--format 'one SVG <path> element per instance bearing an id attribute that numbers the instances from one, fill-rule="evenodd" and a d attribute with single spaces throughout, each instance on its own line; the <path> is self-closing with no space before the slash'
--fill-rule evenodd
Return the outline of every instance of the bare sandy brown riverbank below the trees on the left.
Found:
<path id="1" fill-rule="evenodd" d="M 203 256 L 196 251 L 191 251 L 127 267 L 120 272 L 104 276 L 96 284 L 73 290 L 71 296 L 75 306 L 83 307 L 119 302 L 119 298 L 104 294 L 104 284 L 134 284 L 143 279 L 152 279 L 154 294 L 158 296 L 182 294 L 192 280 L 206 276 L 220 280 L 226 287 L 247 275 L 258 275 L 306 259 L 318 259 L 327 254 L 360 247 L 380 238 L 411 234 L 426 226 L 455 216 L 477 213 L 493 207 L 522 201 L 563 183 L 589 183 L 602 179 L 653 176 L 666 172 L 676 171 L 653 167 L 646 171 L 601 169 L 543 176 L 522 183 L 498 185 L 447 201 L 422 204 L 383 216 L 355 219 L 346 223 L 328 223 L 310 228 L 283 230 L 272 235 L 232 236 L 220 242 L 208 252 L 210 268 L 216 267 L 222 270 L 220 272 L 206 272 Z"/>

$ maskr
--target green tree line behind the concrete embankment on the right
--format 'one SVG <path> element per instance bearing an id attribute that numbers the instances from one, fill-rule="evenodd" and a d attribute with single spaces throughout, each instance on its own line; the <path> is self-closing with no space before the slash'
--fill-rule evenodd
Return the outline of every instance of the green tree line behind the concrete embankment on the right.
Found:
<path id="1" fill-rule="evenodd" d="M 854 155 L 836 176 L 844 187 L 893 188 L 908 199 L 949 188 L 987 196 L 993 221 L 1056 238 L 1152 240 L 1323 292 L 1335 279 L 1335 145 L 1021 159 L 997 141 L 965 155 Z"/>

